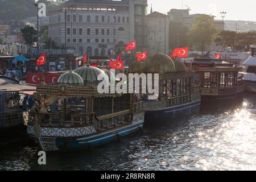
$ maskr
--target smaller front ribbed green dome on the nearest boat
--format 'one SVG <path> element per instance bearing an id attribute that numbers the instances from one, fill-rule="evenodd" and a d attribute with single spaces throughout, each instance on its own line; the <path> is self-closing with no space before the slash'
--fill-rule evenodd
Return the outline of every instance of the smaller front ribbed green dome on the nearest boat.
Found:
<path id="1" fill-rule="evenodd" d="M 84 84 L 84 81 L 82 80 L 81 76 L 79 76 L 77 73 L 74 73 L 72 71 L 69 71 L 67 73 L 64 73 L 61 75 L 57 81 L 59 84 Z"/>

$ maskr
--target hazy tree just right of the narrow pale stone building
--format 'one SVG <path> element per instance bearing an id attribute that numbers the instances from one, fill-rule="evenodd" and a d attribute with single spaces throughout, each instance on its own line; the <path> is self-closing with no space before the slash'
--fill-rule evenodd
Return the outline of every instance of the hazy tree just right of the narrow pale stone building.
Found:
<path id="1" fill-rule="evenodd" d="M 169 30 L 170 30 L 169 46 L 171 49 L 188 46 L 188 42 L 187 42 L 188 27 L 184 26 L 182 22 L 171 21 Z"/>

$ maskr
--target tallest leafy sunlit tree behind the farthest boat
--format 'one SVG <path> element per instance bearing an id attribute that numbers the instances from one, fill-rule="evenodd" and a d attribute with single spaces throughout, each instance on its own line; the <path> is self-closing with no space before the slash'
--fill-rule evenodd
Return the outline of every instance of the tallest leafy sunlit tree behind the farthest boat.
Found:
<path id="1" fill-rule="evenodd" d="M 203 53 L 207 46 L 213 42 L 214 34 L 217 31 L 212 17 L 200 15 L 194 20 L 192 28 L 188 32 L 188 39 L 192 46 L 200 49 Z"/>

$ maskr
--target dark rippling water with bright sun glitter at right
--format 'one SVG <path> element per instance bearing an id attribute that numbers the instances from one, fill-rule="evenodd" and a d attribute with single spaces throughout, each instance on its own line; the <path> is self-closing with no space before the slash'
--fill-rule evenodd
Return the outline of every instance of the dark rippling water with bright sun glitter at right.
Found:
<path id="1" fill-rule="evenodd" d="M 47 154 L 39 166 L 34 144 L 0 151 L 4 170 L 255 170 L 256 95 L 204 107 L 200 114 L 145 126 L 146 133 L 93 150 Z"/>

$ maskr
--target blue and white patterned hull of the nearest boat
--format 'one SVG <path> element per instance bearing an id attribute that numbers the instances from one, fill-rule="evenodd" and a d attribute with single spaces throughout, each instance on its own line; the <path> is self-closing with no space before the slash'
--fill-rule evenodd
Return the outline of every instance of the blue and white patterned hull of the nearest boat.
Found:
<path id="1" fill-rule="evenodd" d="M 28 125 L 27 134 L 44 151 L 70 151 L 97 147 L 112 142 L 142 129 L 143 123 L 144 113 L 141 113 L 134 116 L 133 123 L 104 131 L 96 131 L 94 126 L 64 129 Z"/>

